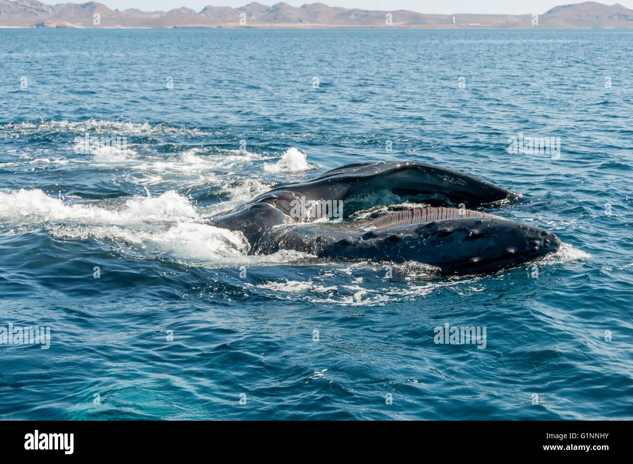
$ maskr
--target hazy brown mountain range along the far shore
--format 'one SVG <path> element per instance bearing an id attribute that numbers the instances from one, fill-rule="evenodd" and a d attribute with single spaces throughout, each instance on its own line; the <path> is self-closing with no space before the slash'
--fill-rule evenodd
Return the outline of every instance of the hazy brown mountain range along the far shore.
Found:
<path id="1" fill-rule="evenodd" d="M 537 13 L 536 11 L 534 13 Z M 391 15 L 391 16 L 390 16 Z M 537 24 L 534 24 L 537 20 Z M 391 24 L 389 24 L 391 22 Z M 206 6 L 170 11 L 112 10 L 101 3 L 49 6 L 36 0 L 0 0 L 0 27 L 633 27 L 633 10 L 620 4 L 584 2 L 556 6 L 542 15 L 424 15 L 415 11 L 370 11 L 322 3 L 300 8 L 286 3 L 241 8 Z"/>

